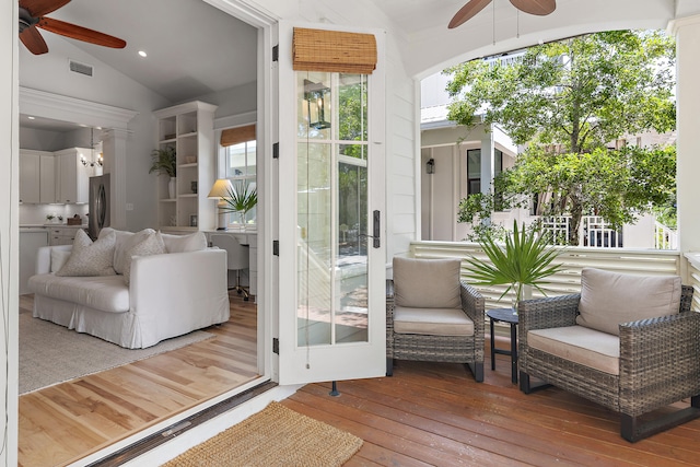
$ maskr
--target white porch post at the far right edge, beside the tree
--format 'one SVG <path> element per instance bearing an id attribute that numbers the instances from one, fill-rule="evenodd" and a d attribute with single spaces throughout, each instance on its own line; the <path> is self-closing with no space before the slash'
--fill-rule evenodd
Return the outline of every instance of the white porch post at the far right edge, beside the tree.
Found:
<path id="1" fill-rule="evenodd" d="M 700 16 L 672 22 L 676 37 L 678 245 L 681 253 L 700 250 Z M 685 269 L 685 262 L 681 261 Z M 686 271 L 681 275 L 685 277 Z"/>

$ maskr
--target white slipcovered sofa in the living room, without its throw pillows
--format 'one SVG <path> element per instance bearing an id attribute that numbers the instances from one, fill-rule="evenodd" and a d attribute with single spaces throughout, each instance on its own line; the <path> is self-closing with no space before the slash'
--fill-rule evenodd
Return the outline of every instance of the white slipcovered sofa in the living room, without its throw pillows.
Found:
<path id="1" fill-rule="evenodd" d="M 178 242 L 174 235 L 162 236 L 166 247 Z M 126 235 L 119 237 L 124 241 Z M 58 261 L 58 252 L 71 248 L 39 249 L 36 275 L 27 283 L 35 317 L 129 349 L 229 319 L 226 253 L 207 248 L 206 240 L 199 250 L 133 256 L 128 285 L 121 275 L 57 276 L 51 260 Z"/>

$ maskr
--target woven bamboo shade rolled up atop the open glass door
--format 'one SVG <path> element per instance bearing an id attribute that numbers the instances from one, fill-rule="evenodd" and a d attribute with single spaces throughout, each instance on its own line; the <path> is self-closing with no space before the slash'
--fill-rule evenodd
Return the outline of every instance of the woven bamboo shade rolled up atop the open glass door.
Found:
<path id="1" fill-rule="evenodd" d="M 294 27 L 294 70 L 372 74 L 376 68 L 373 34 Z"/>

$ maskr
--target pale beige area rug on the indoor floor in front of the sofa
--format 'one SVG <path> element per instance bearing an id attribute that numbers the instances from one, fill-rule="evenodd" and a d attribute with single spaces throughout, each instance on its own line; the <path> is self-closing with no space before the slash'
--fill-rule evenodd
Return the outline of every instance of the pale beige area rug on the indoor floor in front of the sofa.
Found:
<path id="1" fill-rule="evenodd" d="M 197 330 L 148 349 L 125 349 L 20 313 L 20 394 L 148 359 L 214 337 Z"/>

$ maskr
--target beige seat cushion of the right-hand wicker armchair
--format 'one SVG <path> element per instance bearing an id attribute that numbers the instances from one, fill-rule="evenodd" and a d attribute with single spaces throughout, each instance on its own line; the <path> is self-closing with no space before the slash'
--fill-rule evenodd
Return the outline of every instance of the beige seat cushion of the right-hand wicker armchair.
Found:
<path id="1" fill-rule="evenodd" d="M 620 374 L 620 338 L 584 326 L 536 329 L 527 346 L 604 373 Z"/>

